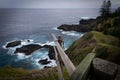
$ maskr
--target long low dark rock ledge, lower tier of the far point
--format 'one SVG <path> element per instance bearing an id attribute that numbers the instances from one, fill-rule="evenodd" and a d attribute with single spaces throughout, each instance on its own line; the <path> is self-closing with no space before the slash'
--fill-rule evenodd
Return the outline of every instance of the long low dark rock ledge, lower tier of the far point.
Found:
<path id="1" fill-rule="evenodd" d="M 58 29 L 62 29 L 64 31 L 77 31 L 77 32 L 88 32 L 90 31 L 89 25 L 61 25 Z"/>

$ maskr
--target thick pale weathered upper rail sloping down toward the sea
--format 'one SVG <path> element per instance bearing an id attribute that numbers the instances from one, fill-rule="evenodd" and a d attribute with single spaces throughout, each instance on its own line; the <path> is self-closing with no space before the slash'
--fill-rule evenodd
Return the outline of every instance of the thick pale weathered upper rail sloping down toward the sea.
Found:
<path id="1" fill-rule="evenodd" d="M 73 65 L 73 63 L 71 62 L 71 60 L 68 58 L 68 56 L 66 55 L 66 53 L 63 51 L 63 49 L 61 48 L 60 44 L 57 41 L 57 38 L 54 34 L 52 34 L 53 38 L 54 38 L 54 42 L 56 44 L 57 50 L 59 52 L 59 55 L 68 71 L 69 76 L 71 76 L 73 74 L 73 72 L 75 71 L 75 66 Z"/>

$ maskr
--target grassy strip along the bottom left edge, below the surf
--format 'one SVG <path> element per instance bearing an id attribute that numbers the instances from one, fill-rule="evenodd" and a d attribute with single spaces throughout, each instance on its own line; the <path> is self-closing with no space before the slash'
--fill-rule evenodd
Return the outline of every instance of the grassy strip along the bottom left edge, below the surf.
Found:
<path id="1" fill-rule="evenodd" d="M 68 79 L 68 73 L 63 67 L 64 79 Z M 22 68 L 12 68 L 5 66 L 0 68 L 0 80 L 57 80 L 58 74 L 56 68 L 42 70 L 24 70 Z"/>

